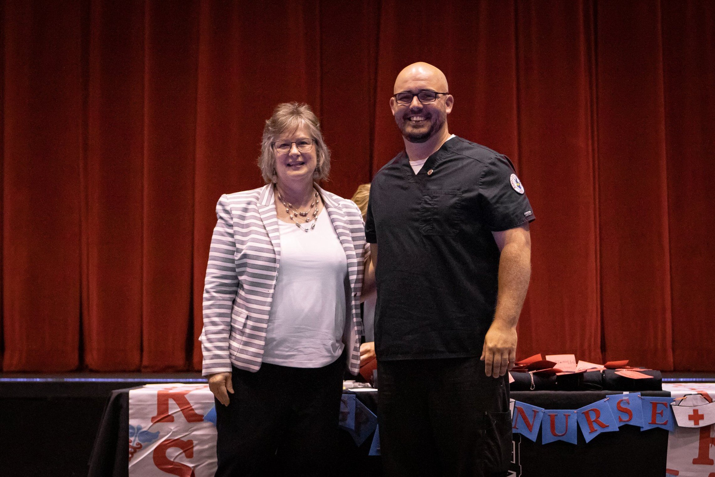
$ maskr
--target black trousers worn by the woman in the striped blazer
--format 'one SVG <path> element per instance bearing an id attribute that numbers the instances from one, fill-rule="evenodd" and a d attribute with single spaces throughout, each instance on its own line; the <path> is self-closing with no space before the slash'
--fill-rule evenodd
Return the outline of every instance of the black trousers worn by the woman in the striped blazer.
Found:
<path id="1" fill-rule="evenodd" d="M 345 353 L 323 368 L 233 368 L 230 403 L 216 400 L 216 477 L 329 476 Z"/>

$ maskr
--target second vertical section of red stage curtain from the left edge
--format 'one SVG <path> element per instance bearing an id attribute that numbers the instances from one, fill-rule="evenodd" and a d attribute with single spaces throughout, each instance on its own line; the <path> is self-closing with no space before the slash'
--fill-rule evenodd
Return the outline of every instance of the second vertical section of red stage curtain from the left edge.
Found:
<path id="1" fill-rule="evenodd" d="M 82 330 L 90 369 L 139 370 L 144 222 L 144 1 L 89 14 Z"/>

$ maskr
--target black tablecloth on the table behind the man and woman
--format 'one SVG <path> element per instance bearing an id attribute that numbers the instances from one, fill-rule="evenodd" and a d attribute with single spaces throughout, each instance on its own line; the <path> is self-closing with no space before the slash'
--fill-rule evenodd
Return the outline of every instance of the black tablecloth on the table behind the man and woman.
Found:
<path id="1" fill-rule="evenodd" d="M 416 391 L 417 392 L 417 391 Z M 377 393 L 355 393 L 375 412 Z M 578 409 L 601 400 L 611 391 L 514 391 L 511 398 L 546 409 Z M 667 391 L 644 391 L 644 396 L 669 396 Z M 89 477 L 127 477 L 129 466 L 129 389 L 112 393 L 104 410 L 89 464 Z M 372 438 L 358 448 L 346 432 L 341 433 L 340 476 L 380 476 L 380 458 L 368 456 Z M 409 445 L 409 443 L 405 443 Z M 668 431 L 641 431 L 623 426 L 618 432 L 602 433 L 586 443 L 578 432 L 578 445 L 556 441 L 541 444 L 514 436 L 512 477 L 663 477 L 666 468 Z"/>

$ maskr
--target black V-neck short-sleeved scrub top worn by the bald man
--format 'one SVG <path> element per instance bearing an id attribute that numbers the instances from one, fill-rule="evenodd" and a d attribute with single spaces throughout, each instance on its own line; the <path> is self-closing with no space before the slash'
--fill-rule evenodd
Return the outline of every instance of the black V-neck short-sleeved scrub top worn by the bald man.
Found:
<path id="1" fill-rule="evenodd" d="M 401 152 L 375 175 L 365 235 L 377 243 L 381 360 L 479 356 L 494 316 L 492 232 L 534 215 L 511 161 L 452 137 L 415 174 Z"/>

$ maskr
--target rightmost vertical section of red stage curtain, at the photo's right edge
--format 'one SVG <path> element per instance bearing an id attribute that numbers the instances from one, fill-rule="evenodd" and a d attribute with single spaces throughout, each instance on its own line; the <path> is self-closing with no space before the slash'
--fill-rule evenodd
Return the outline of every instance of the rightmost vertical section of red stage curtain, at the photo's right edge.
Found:
<path id="1" fill-rule="evenodd" d="M 661 8 L 673 364 L 711 371 L 715 9 L 679 0 Z"/>

